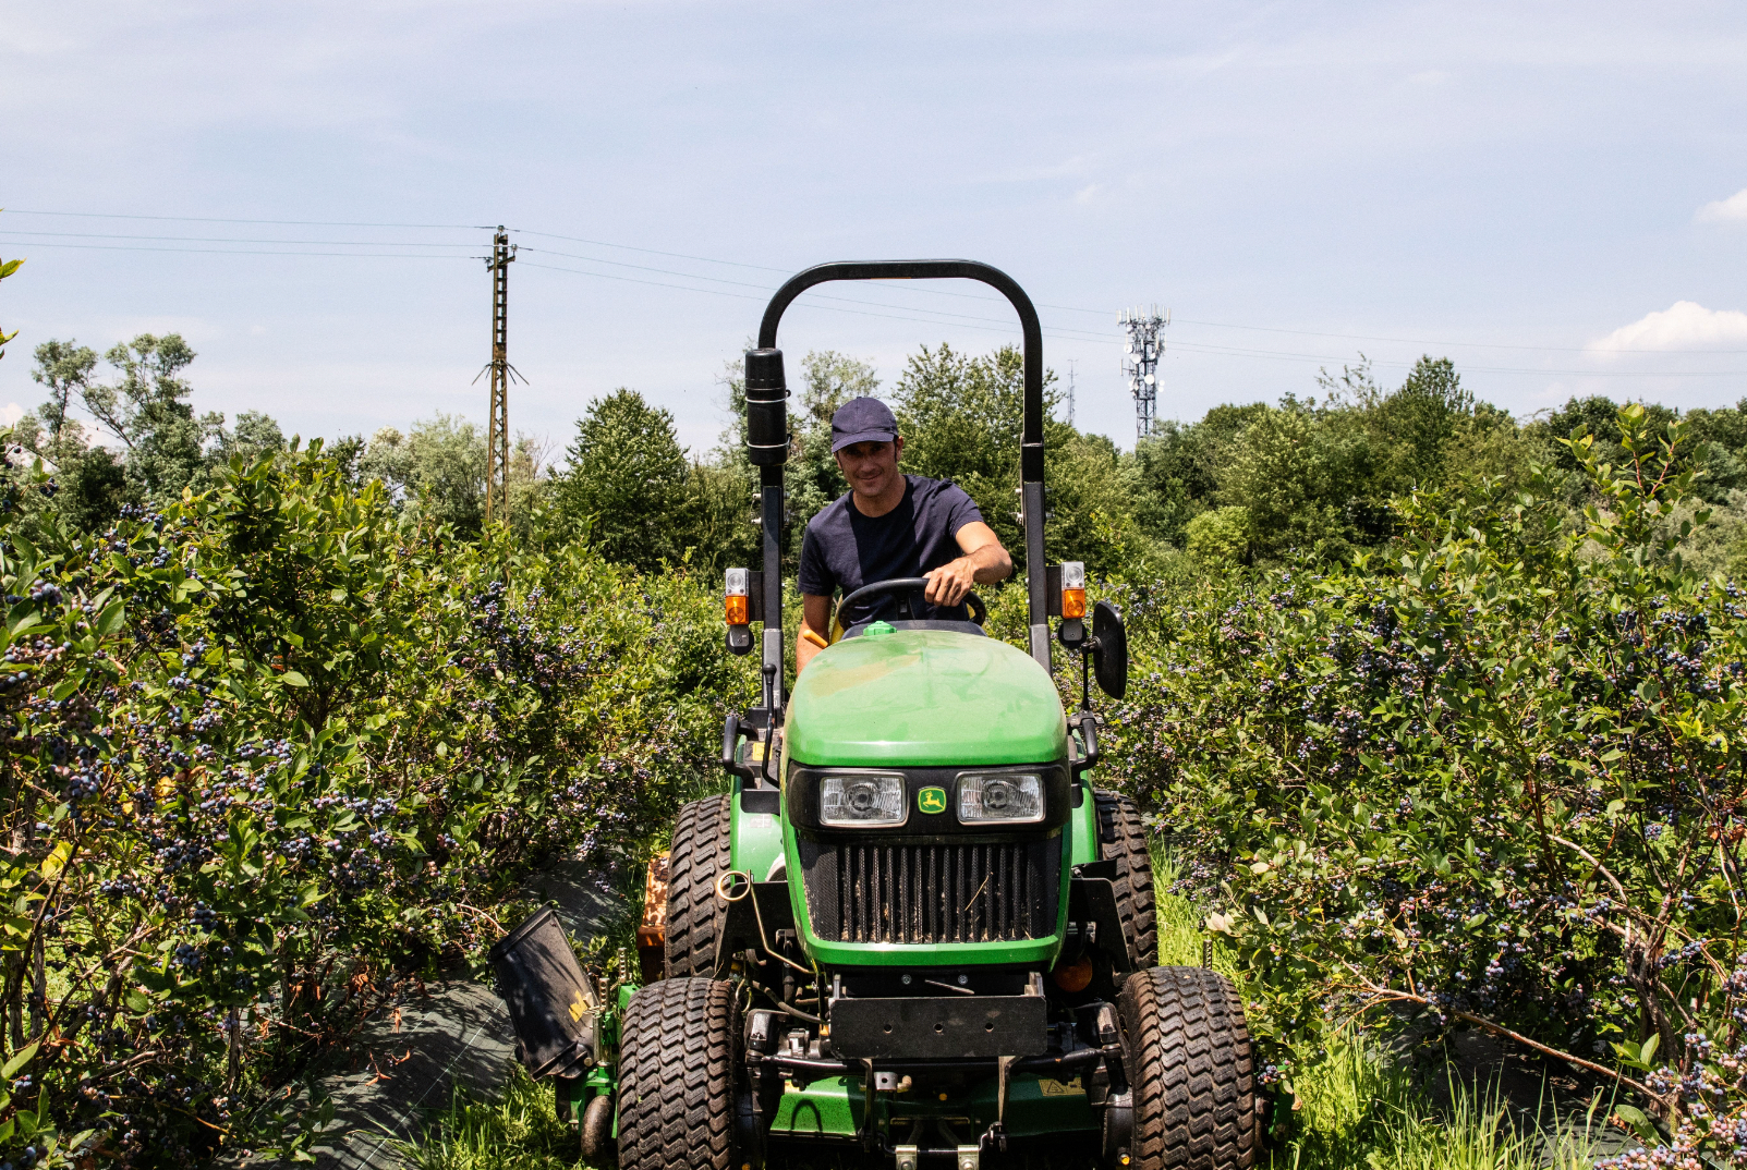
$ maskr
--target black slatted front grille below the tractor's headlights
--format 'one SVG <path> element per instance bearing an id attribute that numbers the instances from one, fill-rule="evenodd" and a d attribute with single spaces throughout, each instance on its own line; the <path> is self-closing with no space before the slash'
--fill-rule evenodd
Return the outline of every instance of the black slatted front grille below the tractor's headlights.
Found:
<path id="1" fill-rule="evenodd" d="M 802 838 L 812 933 L 830 943 L 1048 938 L 1060 850 L 1060 836 L 950 845 Z"/>

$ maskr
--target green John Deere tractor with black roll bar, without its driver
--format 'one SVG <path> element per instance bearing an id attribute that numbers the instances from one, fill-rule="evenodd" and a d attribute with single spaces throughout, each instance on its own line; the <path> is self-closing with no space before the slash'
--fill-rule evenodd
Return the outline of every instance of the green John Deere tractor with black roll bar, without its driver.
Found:
<path id="1" fill-rule="evenodd" d="M 814 285 L 891 278 L 978 279 L 1019 311 L 1029 653 L 984 634 L 975 595 L 971 620 L 938 620 L 922 580 L 875 582 L 839 613 L 887 594 L 896 616 L 840 630 L 784 695 L 777 323 Z M 758 1170 L 832 1149 L 896 1170 L 1032 1153 L 1253 1165 L 1242 1002 L 1205 967 L 1157 966 L 1139 814 L 1094 788 L 1088 679 L 1120 699 L 1127 641 L 1108 602 L 1088 620 L 1083 566 L 1045 559 L 1041 330 L 1025 292 L 968 260 L 807 269 L 746 354 L 746 416 L 763 566 L 727 573 L 727 644 L 749 653 L 763 627 L 762 702 L 727 718 L 732 791 L 680 812 L 664 978 L 615 997 L 617 1053 L 596 1053 L 589 1081 L 596 1146 L 617 1090 L 624 1170 Z M 1078 712 L 1062 707 L 1052 643 L 1067 669 L 1080 657 Z"/>

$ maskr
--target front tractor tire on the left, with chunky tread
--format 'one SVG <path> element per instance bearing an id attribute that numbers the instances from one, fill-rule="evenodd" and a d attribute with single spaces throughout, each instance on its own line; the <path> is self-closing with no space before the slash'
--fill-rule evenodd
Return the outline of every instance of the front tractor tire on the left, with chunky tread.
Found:
<path id="1" fill-rule="evenodd" d="M 734 987 L 666 978 L 631 997 L 618 1046 L 620 1170 L 734 1165 Z"/>

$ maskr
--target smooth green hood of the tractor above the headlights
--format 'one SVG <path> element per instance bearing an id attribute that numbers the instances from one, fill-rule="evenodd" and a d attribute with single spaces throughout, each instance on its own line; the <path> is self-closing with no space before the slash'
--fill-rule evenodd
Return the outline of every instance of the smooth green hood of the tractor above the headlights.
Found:
<path id="1" fill-rule="evenodd" d="M 807 765 L 1045 763 L 1067 754 L 1055 683 L 980 634 L 894 630 L 821 650 L 795 681 L 786 753 Z"/>

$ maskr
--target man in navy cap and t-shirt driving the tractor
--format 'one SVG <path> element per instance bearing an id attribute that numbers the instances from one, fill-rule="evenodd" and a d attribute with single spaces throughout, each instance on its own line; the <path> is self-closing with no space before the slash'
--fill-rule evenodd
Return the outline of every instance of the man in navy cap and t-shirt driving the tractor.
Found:
<path id="1" fill-rule="evenodd" d="M 1013 559 L 963 487 L 898 471 L 903 437 L 879 398 L 851 398 L 837 409 L 832 454 L 849 491 L 807 522 L 800 545 L 797 672 L 828 644 L 835 590 L 847 597 L 874 582 L 926 576 L 922 595 L 938 611 L 963 602 L 971 585 L 1013 573 Z M 858 613 L 844 615 L 844 625 L 891 608 L 891 595 L 856 602 Z"/>

